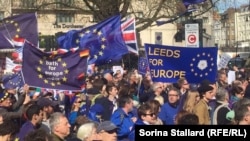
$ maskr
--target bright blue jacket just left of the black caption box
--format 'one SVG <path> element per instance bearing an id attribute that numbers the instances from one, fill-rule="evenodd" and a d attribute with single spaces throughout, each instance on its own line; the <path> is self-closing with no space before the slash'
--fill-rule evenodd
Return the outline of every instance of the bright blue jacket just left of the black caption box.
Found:
<path id="1" fill-rule="evenodd" d="M 111 122 L 117 127 L 118 140 L 127 139 L 134 127 L 134 122 L 131 120 L 132 113 L 126 114 L 122 108 L 118 108 L 111 116 Z"/>

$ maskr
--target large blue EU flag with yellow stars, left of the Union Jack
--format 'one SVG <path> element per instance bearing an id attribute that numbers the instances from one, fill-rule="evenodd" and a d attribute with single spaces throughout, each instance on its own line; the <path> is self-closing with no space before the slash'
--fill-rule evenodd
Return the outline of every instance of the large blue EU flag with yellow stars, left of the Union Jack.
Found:
<path id="1" fill-rule="evenodd" d="M 121 33 L 120 15 L 108 18 L 82 30 L 70 30 L 57 38 L 60 48 L 89 49 L 88 63 L 103 65 L 120 60 L 128 49 Z"/>

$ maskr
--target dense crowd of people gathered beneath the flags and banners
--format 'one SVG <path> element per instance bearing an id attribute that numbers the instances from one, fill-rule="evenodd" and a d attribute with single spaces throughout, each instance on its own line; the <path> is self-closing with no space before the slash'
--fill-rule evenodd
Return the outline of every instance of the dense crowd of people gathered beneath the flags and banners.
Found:
<path id="1" fill-rule="evenodd" d="M 2 87 L 1 141 L 134 141 L 136 125 L 250 125 L 250 80 L 244 69 L 218 71 L 216 82 L 153 82 L 137 69 L 98 69 L 84 92 Z"/>

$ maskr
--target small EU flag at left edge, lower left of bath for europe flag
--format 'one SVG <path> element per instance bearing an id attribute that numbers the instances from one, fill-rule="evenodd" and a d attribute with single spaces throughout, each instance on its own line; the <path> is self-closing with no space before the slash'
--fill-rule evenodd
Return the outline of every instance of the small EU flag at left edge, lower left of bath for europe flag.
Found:
<path id="1" fill-rule="evenodd" d="M 18 73 L 4 75 L 2 78 L 2 82 L 5 89 L 16 89 L 24 86 L 21 71 L 19 71 Z"/>

